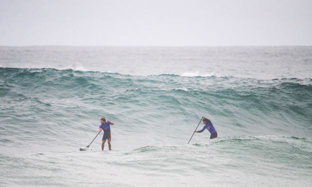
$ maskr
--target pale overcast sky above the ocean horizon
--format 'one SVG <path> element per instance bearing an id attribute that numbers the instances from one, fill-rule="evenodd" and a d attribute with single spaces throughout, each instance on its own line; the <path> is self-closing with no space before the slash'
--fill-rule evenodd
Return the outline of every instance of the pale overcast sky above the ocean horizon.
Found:
<path id="1" fill-rule="evenodd" d="M 312 0 L 0 0 L 0 45 L 312 45 Z"/>

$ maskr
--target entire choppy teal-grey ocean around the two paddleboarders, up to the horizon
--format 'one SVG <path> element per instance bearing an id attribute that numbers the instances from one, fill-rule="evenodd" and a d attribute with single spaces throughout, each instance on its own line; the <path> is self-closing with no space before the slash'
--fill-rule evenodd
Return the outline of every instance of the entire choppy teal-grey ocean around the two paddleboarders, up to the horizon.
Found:
<path id="1" fill-rule="evenodd" d="M 311 134 L 311 46 L 0 47 L 0 186 L 311 186 Z"/>

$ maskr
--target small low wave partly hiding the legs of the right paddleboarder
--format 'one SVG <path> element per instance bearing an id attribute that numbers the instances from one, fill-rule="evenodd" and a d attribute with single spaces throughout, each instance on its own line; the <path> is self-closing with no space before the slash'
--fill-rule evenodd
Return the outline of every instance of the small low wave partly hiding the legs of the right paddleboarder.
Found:
<path id="1" fill-rule="evenodd" d="M 230 154 L 231 157 L 248 155 L 250 158 L 267 158 L 270 161 L 280 161 L 278 155 L 283 155 L 284 159 L 288 161 L 292 159 L 291 157 L 297 156 L 297 161 L 302 164 L 310 162 L 312 157 L 307 155 L 312 155 L 311 148 L 311 139 L 300 136 L 228 136 L 194 144 L 147 145 L 125 154 L 171 157 L 171 155 L 180 154 L 180 152 L 201 155 L 203 152 L 209 151 L 218 155 Z M 184 155 L 186 154 L 184 153 Z"/>

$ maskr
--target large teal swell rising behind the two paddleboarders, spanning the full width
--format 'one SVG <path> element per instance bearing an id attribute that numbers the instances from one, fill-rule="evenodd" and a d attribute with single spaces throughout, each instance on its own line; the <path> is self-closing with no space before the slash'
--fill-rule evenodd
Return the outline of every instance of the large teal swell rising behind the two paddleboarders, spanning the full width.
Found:
<path id="1" fill-rule="evenodd" d="M 127 125 L 129 133 L 146 131 L 146 125 L 161 132 L 165 123 L 159 124 L 159 119 L 171 124 L 182 122 L 186 128 L 183 121 L 208 113 L 216 124 L 222 124 L 225 135 L 307 135 L 312 120 L 310 79 L 131 76 L 73 69 L 0 68 L 0 96 L 0 122 L 5 128 L 18 124 L 12 124 L 11 119 L 25 119 L 29 130 L 32 125 L 58 119 L 47 129 L 52 134 L 70 131 L 66 124 L 73 119 L 80 121 L 74 134 L 81 134 L 88 129 L 90 118 L 104 114 L 134 123 Z"/>

